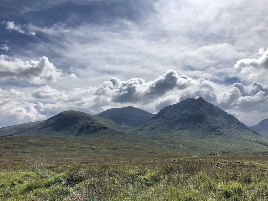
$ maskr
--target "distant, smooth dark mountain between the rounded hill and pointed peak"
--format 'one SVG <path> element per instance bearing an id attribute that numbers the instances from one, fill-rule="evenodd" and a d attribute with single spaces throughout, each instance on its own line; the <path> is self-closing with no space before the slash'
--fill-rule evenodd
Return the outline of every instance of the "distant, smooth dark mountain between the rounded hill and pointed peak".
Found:
<path id="1" fill-rule="evenodd" d="M 114 121 L 116 124 L 121 125 L 118 130 L 124 131 L 146 123 L 154 116 L 154 114 L 129 106 L 105 110 L 96 116 L 101 116 Z"/>

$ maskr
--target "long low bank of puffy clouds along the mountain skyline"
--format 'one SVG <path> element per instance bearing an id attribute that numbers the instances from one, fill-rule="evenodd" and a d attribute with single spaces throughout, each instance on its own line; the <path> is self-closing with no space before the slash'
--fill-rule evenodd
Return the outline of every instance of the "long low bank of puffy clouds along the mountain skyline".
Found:
<path id="1" fill-rule="evenodd" d="M 254 125 L 268 115 L 268 85 L 255 81 L 248 86 L 235 83 L 228 87 L 210 80 L 179 76 L 174 70 L 149 82 L 141 78 L 126 81 L 111 78 L 100 87 L 74 88 L 67 92 L 45 85 L 28 94 L 16 90 L 1 90 L 0 93 L 1 113 L 17 123 L 45 120 L 64 110 L 97 114 L 130 105 L 154 113 L 186 98 L 198 97 L 248 125 Z"/>

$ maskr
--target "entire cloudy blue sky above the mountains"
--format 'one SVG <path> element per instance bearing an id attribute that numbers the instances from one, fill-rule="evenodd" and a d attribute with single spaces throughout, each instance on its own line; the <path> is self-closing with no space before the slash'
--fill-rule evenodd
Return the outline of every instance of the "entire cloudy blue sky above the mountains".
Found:
<path id="1" fill-rule="evenodd" d="M 267 0 L 1 0 L 0 127 L 202 97 L 268 118 Z"/>

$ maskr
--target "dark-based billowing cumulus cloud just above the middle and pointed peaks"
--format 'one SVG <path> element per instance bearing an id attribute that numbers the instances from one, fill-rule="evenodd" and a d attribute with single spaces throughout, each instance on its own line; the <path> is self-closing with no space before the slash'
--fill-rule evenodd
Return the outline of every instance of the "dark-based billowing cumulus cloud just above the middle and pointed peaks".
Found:
<path id="1" fill-rule="evenodd" d="M 200 95 L 198 90 L 201 89 L 203 92 L 213 93 L 215 91 L 214 85 L 210 80 L 193 79 L 185 75 L 178 76 L 176 71 L 168 70 L 162 76 L 149 82 L 145 82 L 141 78 L 121 81 L 114 77 L 110 81 L 104 82 L 95 95 L 109 97 L 111 101 L 116 103 L 148 103 L 170 94 L 181 94 L 182 98 L 189 96 L 190 94 L 185 94 L 185 92 L 189 92 L 189 89 L 191 89 L 193 97 Z M 185 92 L 183 93 L 183 91 Z"/>

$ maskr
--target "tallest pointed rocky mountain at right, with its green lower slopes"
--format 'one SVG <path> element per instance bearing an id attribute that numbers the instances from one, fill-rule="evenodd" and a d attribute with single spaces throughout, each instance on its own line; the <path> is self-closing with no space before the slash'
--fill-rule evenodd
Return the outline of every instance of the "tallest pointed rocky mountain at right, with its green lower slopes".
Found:
<path id="1" fill-rule="evenodd" d="M 127 132 L 189 150 L 268 150 L 267 139 L 203 98 L 164 107 Z"/>

